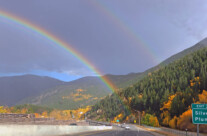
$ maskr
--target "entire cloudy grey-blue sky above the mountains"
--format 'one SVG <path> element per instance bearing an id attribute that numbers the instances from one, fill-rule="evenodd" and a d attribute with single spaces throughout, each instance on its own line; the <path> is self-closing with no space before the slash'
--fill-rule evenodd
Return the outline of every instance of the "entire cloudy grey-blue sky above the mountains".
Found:
<path id="1" fill-rule="evenodd" d="M 0 0 L 0 11 L 69 44 L 101 74 L 143 72 L 207 36 L 206 0 Z M 0 76 L 93 76 L 44 36 L 0 16 Z"/>

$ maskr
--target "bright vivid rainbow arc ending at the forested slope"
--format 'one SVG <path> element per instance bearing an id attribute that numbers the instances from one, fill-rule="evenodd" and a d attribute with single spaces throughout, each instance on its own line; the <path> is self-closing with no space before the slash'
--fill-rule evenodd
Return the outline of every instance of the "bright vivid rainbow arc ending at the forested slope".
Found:
<path id="1" fill-rule="evenodd" d="M 115 92 L 117 88 L 106 76 L 102 76 L 102 73 L 88 61 L 83 55 L 81 55 L 77 50 L 75 50 L 70 44 L 64 42 L 57 36 L 49 33 L 48 31 L 44 30 L 43 28 L 32 24 L 31 22 L 14 16 L 8 12 L 0 10 L 0 19 L 5 19 L 9 22 L 15 23 L 20 27 L 26 28 L 32 32 L 37 33 L 41 37 L 46 38 L 47 40 L 53 42 L 55 45 L 62 47 L 67 52 L 71 53 L 75 58 L 77 58 L 80 62 L 82 62 L 85 66 L 87 66 L 91 71 L 93 71 L 99 78 L 103 81 L 103 83 L 112 91 Z"/>

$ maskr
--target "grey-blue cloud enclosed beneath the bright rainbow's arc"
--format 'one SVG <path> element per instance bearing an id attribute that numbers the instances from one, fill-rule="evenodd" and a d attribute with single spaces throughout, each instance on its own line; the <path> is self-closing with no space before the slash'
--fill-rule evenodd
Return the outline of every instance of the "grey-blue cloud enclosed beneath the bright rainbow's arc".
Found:
<path id="1" fill-rule="evenodd" d="M 0 30 L 1 73 L 25 73 L 33 70 L 64 72 L 78 69 L 78 75 L 89 71 L 69 52 L 32 33 L 2 24 Z"/>

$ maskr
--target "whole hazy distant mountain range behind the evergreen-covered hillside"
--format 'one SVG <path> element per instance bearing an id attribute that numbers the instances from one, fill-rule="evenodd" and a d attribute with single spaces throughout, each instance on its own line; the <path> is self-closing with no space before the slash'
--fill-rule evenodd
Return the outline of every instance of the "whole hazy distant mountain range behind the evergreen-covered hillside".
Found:
<path id="1" fill-rule="evenodd" d="M 207 39 L 195 46 L 188 48 L 167 60 L 142 73 L 128 75 L 104 75 L 118 88 L 125 88 L 136 84 L 149 73 L 157 71 L 170 63 L 183 58 L 207 46 Z M 47 80 L 47 81 L 46 81 Z M 48 77 L 17 76 L 0 78 L 0 104 L 38 104 L 52 108 L 68 109 L 79 106 L 92 105 L 112 92 L 101 82 L 98 77 L 84 77 L 72 82 L 62 82 Z M 18 92 L 18 93 L 17 93 Z"/>

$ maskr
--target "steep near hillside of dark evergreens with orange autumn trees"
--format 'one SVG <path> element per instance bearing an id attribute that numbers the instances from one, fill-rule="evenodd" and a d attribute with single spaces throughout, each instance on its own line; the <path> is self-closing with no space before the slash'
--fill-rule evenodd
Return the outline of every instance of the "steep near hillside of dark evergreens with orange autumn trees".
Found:
<path id="1" fill-rule="evenodd" d="M 148 121 L 152 116 L 155 118 L 154 122 L 159 121 L 159 124 L 164 126 L 195 130 L 191 123 L 190 106 L 195 102 L 207 102 L 205 90 L 207 48 L 202 48 L 148 73 L 134 86 L 106 97 L 93 106 L 90 117 L 113 120 L 122 114 L 120 120 L 130 121 L 130 113 L 135 115 L 136 111 L 141 111 L 143 123 L 147 123 L 147 115 Z"/>

